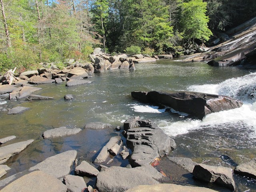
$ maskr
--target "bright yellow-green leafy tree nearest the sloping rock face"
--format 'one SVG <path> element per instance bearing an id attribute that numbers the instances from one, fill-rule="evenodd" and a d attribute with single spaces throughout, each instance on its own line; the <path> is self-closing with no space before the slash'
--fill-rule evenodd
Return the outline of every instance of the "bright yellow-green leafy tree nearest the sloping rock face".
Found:
<path id="1" fill-rule="evenodd" d="M 207 3 L 202 0 L 191 0 L 183 2 L 180 5 L 181 9 L 181 31 L 184 32 L 184 38 L 194 46 L 194 39 L 209 40 L 212 35 L 208 28 L 209 17 L 206 16 Z"/>

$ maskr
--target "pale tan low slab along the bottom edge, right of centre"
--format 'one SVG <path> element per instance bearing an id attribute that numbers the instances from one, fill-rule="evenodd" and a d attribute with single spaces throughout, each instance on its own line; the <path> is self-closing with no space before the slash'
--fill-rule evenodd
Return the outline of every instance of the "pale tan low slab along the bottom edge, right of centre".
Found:
<path id="1" fill-rule="evenodd" d="M 183 186 L 177 184 L 141 185 L 130 188 L 125 192 L 216 192 L 204 187 Z"/>

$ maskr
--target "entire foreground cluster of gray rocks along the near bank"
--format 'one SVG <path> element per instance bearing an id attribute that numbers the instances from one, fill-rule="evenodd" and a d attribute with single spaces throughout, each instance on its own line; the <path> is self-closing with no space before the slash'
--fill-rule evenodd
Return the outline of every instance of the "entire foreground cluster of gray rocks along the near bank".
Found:
<path id="1" fill-rule="evenodd" d="M 84 129 L 102 130 L 114 129 L 113 126 L 101 122 L 88 123 Z M 81 130 L 70 129 L 72 134 L 78 134 Z M 160 184 L 165 174 L 158 172 L 150 165 L 153 158 L 158 158 L 168 154 L 176 148 L 172 138 L 164 134 L 150 120 L 140 120 L 134 117 L 124 122 L 122 134 L 126 137 L 126 143 L 121 136 L 114 136 L 102 148 L 100 154 L 94 160 L 94 164 L 82 161 L 77 166 L 77 152 L 70 150 L 55 156 L 46 158 L 44 161 L 32 166 L 28 170 L 0 180 L 1 192 L 9 191 L 37 191 L 44 188 L 44 191 L 69 191 L 69 192 L 138 192 L 138 191 L 191 191 L 191 192 L 214 192 L 214 190 L 202 187 L 180 186 L 176 184 Z M 67 133 L 67 134 L 66 134 Z M 46 136 L 48 135 L 48 136 Z M 70 132 L 65 127 L 56 128 L 44 132 L 44 138 L 52 139 L 56 137 L 69 136 Z M 0 139 L 1 143 L 6 143 L 14 139 L 15 136 Z M 33 140 L 18 142 L 0 147 L 0 164 L 3 164 L 11 156 L 18 154 Z M 129 147 L 131 150 L 128 150 Z M 122 150 L 122 148 L 124 150 Z M 111 156 L 128 153 L 125 158 L 129 158 L 130 165 L 124 167 L 104 166 Z M 198 164 L 188 158 L 168 157 L 170 162 L 180 165 L 182 168 L 192 173 L 198 180 L 211 184 L 217 184 L 231 190 L 236 189 L 231 168 L 223 166 L 209 166 Z M 109 162 L 109 161 L 108 161 Z M 108 164 L 108 163 L 107 163 Z M 73 168 L 75 166 L 75 168 Z M 98 166 L 98 168 L 96 168 Z M 132 168 L 133 167 L 133 168 Z M 234 173 L 256 178 L 256 159 L 238 165 Z M 10 168 L 0 165 L 0 177 L 6 174 Z M 70 172 L 74 170 L 75 175 Z M 96 177 L 96 187 L 87 186 L 84 181 L 86 177 Z M 24 185 L 26 183 L 26 185 Z"/>

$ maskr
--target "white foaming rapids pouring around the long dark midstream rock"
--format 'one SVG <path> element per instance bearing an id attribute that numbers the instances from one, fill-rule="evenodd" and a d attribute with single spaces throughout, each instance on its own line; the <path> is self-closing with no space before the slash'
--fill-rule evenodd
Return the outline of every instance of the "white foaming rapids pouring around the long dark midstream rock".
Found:
<path id="1" fill-rule="evenodd" d="M 209 114 L 204 117 L 203 120 L 190 118 L 177 122 L 161 120 L 158 122 L 158 126 L 162 128 L 166 134 L 169 136 L 177 136 L 205 126 L 243 122 L 246 126 L 254 130 L 250 135 L 251 138 L 256 138 L 256 73 L 231 78 L 219 84 L 189 86 L 188 91 L 226 95 L 242 100 L 244 105 L 241 108 Z M 162 112 L 153 106 L 134 106 L 133 108 L 137 112 Z M 239 129 L 239 127 L 237 128 Z"/>

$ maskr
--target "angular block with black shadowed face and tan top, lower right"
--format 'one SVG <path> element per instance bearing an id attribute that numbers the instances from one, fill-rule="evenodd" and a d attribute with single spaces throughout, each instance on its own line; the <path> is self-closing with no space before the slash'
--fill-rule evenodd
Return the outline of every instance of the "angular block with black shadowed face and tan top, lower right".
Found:
<path id="1" fill-rule="evenodd" d="M 193 174 L 199 180 L 235 190 L 231 168 L 197 164 L 194 167 Z"/>

